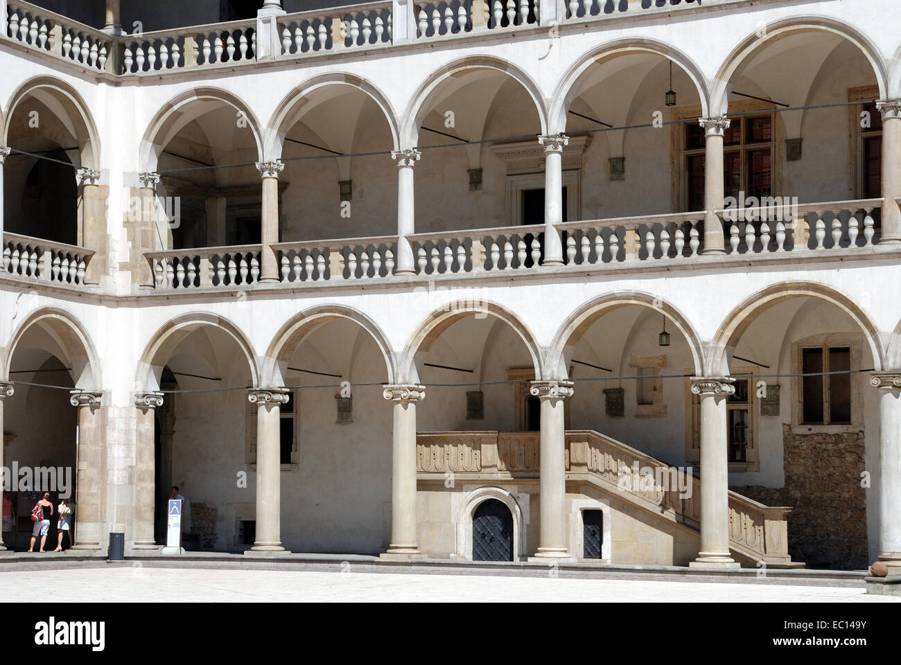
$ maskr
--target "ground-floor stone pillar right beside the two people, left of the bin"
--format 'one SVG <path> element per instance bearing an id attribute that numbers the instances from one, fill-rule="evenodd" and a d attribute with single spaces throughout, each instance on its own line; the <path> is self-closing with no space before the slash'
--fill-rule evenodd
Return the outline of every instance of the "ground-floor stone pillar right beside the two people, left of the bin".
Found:
<path id="1" fill-rule="evenodd" d="M 103 550 L 105 542 L 106 446 L 101 422 L 101 392 L 71 390 L 77 407 L 75 544 L 73 550 Z"/>

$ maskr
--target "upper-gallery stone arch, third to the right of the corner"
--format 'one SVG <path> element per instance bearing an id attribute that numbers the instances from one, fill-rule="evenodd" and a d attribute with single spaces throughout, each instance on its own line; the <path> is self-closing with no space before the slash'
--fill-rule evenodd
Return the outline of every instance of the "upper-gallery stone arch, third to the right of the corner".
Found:
<path id="1" fill-rule="evenodd" d="M 416 88 L 404 113 L 404 121 L 400 128 L 400 148 L 413 148 L 419 139 L 419 126 L 423 122 L 425 114 L 431 110 L 431 102 L 438 93 L 441 84 L 449 77 L 455 76 L 466 69 L 495 69 L 514 78 L 532 97 L 538 119 L 542 126 L 542 134 L 548 132 L 547 109 L 544 103 L 542 90 L 523 69 L 518 68 L 512 62 L 493 56 L 468 56 L 453 60 L 452 62 L 433 71 Z"/>

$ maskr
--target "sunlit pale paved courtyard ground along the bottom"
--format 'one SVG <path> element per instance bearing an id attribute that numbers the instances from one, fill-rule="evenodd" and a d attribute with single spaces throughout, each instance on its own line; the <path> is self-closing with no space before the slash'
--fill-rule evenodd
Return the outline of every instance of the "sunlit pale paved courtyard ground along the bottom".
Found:
<path id="1" fill-rule="evenodd" d="M 98 567 L 0 572 L 0 602 L 899 602 L 864 588 L 801 584 L 501 575 Z"/>

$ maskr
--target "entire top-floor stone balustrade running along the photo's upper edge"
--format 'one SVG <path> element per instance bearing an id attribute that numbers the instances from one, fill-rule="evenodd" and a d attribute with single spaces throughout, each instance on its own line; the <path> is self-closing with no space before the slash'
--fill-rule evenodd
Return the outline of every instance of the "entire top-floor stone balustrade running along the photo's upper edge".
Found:
<path id="1" fill-rule="evenodd" d="M 293 59 L 322 52 L 387 48 L 399 43 L 459 39 L 537 28 L 541 3 L 551 0 L 450 0 L 410 2 L 395 16 L 393 3 L 346 5 L 278 16 L 276 52 L 257 50 L 257 21 L 210 23 L 158 32 L 108 35 L 42 7 L 8 0 L 0 35 L 85 67 L 114 75 L 159 75 L 187 68 L 241 66 L 258 59 Z M 738 0 L 705 0 L 704 6 Z M 567 0 L 557 23 L 587 23 L 616 16 L 698 8 L 701 0 Z M 411 34 L 396 39 L 395 26 Z M 267 47 L 268 48 L 268 47 Z"/>

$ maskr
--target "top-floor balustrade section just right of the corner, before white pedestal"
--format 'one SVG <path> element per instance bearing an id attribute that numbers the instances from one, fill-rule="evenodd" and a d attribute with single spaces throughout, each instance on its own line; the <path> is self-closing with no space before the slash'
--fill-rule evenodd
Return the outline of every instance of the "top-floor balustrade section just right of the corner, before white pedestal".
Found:
<path id="1" fill-rule="evenodd" d="M 120 44 L 123 74 L 233 65 L 256 59 L 256 22 L 232 21 L 123 35 Z"/>

